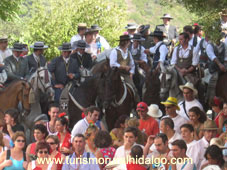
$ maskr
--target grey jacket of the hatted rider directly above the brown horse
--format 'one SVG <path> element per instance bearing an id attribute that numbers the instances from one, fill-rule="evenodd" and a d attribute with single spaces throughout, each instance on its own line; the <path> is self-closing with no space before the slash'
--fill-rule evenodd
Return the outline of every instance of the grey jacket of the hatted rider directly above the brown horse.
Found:
<path id="1" fill-rule="evenodd" d="M 7 82 L 16 79 L 29 78 L 28 60 L 26 58 L 19 57 L 19 60 L 17 61 L 14 56 L 11 55 L 5 58 L 4 64 L 8 76 Z"/>

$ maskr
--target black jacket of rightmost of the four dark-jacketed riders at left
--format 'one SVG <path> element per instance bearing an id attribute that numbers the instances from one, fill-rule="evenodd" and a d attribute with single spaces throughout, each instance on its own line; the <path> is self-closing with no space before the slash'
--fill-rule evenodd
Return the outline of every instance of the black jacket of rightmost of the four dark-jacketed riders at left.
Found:
<path id="1" fill-rule="evenodd" d="M 92 67 L 92 58 L 91 58 L 91 55 L 88 54 L 88 53 L 84 53 L 83 56 L 79 56 L 79 54 L 77 53 L 74 53 L 71 55 L 72 58 L 76 59 L 77 60 L 77 63 L 78 63 L 78 66 L 81 67 L 81 65 L 90 70 L 91 67 Z"/>

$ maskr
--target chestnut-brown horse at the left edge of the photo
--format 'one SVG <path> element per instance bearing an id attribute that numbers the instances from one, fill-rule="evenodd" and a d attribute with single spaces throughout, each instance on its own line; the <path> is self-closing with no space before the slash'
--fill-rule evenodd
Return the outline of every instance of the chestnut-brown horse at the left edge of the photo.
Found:
<path id="1" fill-rule="evenodd" d="M 30 112 L 30 85 L 24 80 L 16 80 L 0 91 L 0 109 L 5 112 L 10 108 L 17 108 L 19 102 L 23 106 L 23 114 Z"/>

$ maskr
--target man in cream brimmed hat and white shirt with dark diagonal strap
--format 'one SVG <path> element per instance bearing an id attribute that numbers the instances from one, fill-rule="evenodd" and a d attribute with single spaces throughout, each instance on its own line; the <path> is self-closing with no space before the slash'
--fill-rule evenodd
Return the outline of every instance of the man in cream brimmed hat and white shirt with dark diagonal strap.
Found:
<path id="1" fill-rule="evenodd" d="M 177 111 L 177 114 L 181 115 L 189 121 L 189 109 L 197 106 L 201 110 L 203 110 L 203 106 L 197 99 L 195 99 L 195 96 L 198 94 L 198 91 L 194 88 L 192 83 L 187 82 L 185 85 L 181 85 L 179 87 L 183 92 L 184 100 L 179 103 L 180 110 Z"/>

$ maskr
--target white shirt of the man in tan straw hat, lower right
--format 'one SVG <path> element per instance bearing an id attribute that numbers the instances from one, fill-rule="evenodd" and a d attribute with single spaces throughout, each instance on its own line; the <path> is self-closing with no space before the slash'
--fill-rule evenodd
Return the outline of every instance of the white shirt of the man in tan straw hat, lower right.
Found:
<path id="1" fill-rule="evenodd" d="M 205 160 L 204 154 L 206 149 L 209 147 L 209 143 L 207 142 L 207 140 L 205 139 L 205 137 L 203 137 L 202 139 L 200 139 L 199 141 L 197 141 L 193 147 L 191 147 L 190 152 L 191 153 L 196 153 L 194 154 L 194 158 L 193 161 L 197 167 L 197 169 L 200 169 L 201 166 L 201 162 L 203 160 Z M 198 154 L 199 153 L 199 154 Z"/>

